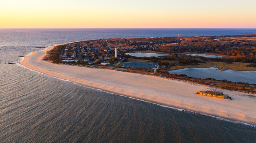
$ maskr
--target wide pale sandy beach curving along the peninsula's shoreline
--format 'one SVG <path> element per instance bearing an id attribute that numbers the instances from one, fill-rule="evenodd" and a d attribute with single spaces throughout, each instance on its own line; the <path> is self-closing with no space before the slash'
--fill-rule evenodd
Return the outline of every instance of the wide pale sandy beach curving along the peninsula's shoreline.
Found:
<path id="1" fill-rule="evenodd" d="M 47 75 L 119 95 L 256 125 L 256 99 L 247 96 L 252 94 L 217 89 L 232 97 L 232 100 L 206 97 L 197 95 L 196 92 L 215 88 L 149 75 L 60 65 L 42 60 L 52 48 L 53 46 L 47 47 L 45 51 L 33 52 L 19 64 Z"/>

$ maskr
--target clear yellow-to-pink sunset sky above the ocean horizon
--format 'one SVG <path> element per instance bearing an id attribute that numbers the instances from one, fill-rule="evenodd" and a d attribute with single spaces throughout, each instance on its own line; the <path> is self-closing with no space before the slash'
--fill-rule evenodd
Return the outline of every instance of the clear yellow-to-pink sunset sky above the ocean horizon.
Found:
<path id="1" fill-rule="evenodd" d="M 256 0 L 1 0 L 0 28 L 256 28 Z"/>

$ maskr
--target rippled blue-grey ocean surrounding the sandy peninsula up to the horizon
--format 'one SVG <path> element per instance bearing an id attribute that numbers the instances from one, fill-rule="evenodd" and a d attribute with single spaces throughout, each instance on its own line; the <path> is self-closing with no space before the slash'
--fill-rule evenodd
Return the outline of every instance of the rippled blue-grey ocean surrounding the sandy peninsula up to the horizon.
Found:
<path id="1" fill-rule="evenodd" d="M 100 38 L 255 34 L 256 29 L 0 29 L 0 142 L 256 142 L 256 127 L 102 92 L 19 64 Z"/>

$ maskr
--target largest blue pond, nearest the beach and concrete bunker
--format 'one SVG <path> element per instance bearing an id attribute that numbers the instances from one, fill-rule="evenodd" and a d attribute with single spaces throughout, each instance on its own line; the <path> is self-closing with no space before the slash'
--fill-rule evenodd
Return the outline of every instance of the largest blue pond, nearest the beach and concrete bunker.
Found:
<path id="1" fill-rule="evenodd" d="M 185 68 L 180 70 L 169 71 L 174 74 L 186 74 L 195 78 L 208 78 L 212 77 L 217 80 L 226 79 L 232 82 L 247 82 L 256 84 L 256 71 L 221 71 L 218 68 Z"/>

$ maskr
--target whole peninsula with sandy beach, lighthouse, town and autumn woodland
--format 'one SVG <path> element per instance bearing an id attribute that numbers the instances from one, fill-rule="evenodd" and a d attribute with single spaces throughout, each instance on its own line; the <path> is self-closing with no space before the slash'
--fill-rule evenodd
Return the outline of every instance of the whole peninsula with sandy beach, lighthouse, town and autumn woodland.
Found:
<path id="1" fill-rule="evenodd" d="M 163 55 L 128 54 L 138 52 Z M 86 40 L 32 52 L 20 64 L 82 86 L 256 125 L 256 84 L 168 72 L 210 67 L 256 71 L 256 34 Z M 206 90 L 232 100 L 196 94 Z"/>

